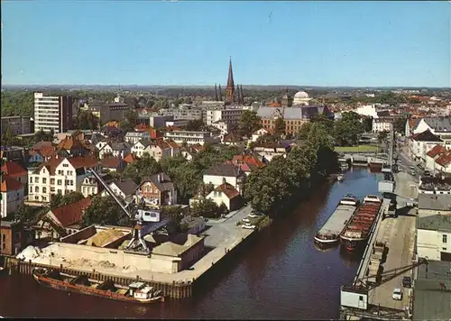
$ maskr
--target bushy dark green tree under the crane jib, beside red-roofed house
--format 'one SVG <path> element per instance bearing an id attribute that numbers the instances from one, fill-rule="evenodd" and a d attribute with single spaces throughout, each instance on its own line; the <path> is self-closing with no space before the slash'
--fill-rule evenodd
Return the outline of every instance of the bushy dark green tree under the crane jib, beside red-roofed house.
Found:
<path id="1" fill-rule="evenodd" d="M 89 225 L 119 225 L 131 226 L 133 221 L 124 213 L 113 197 L 102 197 L 97 194 L 92 198 L 91 206 L 87 207 L 83 219 L 82 227 Z"/>

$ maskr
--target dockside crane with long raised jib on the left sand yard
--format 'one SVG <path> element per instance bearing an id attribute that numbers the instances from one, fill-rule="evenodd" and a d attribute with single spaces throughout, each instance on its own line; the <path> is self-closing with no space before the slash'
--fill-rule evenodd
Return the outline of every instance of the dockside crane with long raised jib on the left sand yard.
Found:
<path id="1" fill-rule="evenodd" d="M 134 225 L 132 231 L 132 240 L 130 240 L 130 243 L 127 244 L 125 250 L 149 254 L 150 253 L 149 247 L 145 243 L 142 234 L 143 225 L 145 225 L 147 222 L 145 217 L 143 217 L 143 211 L 138 209 L 138 206 L 134 198 L 132 199 L 132 201 L 125 202 L 124 204 L 124 202 L 115 195 L 115 192 L 108 186 L 108 184 L 106 184 L 106 181 L 102 179 L 102 177 L 97 173 L 96 170 L 88 169 L 87 172 L 94 175 L 94 177 L 105 188 L 106 192 L 111 197 L 113 197 L 115 202 L 121 207 L 125 215 L 130 217 L 131 220 L 133 220 Z"/>

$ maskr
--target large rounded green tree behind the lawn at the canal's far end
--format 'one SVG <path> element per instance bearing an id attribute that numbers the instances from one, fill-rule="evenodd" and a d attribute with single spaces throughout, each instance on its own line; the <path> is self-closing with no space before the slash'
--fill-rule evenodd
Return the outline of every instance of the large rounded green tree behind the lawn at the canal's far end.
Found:
<path id="1" fill-rule="evenodd" d="M 340 146 L 356 145 L 364 128 L 360 122 L 360 115 L 354 112 L 342 114 L 342 118 L 335 123 L 335 138 Z"/>

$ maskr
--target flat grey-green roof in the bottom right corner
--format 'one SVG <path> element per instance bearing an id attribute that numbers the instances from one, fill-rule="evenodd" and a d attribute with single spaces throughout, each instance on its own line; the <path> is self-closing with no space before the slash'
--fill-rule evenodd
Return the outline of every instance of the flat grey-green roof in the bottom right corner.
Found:
<path id="1" fill-rule="evenodd" d="M 414 294 L 414 320 L 451 319 L 451 262 L 428 261 L 419 266 Z"/>

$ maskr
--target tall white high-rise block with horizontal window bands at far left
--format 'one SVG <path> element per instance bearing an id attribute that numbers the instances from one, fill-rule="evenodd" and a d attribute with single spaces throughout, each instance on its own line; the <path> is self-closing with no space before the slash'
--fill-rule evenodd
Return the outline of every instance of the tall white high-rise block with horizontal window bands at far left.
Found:
<path id="1" fill-rule="evenodd" d="M 71 96 L 44 96 L 34 93 L 34 131 L 64 133 L 72 127 Z"/>

